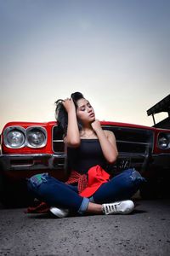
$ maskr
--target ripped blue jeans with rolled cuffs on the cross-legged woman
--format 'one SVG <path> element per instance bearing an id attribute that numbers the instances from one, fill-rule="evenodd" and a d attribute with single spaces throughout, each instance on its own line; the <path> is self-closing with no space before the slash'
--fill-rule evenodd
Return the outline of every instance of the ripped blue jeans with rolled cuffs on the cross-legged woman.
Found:
<path id="1" fill-rule="evenodd" d="M 49 207 L 63 207 L 83 214 L 90 201 L 103 204 L 130 199 L 144 181 L 135 169 L 127 169 L 103 183 L 90 198 L 78 195 L 77 186 L 60 182 L 48 173 L 32 176 L 27 186 L 34 197 L 45 201 Z"/>

